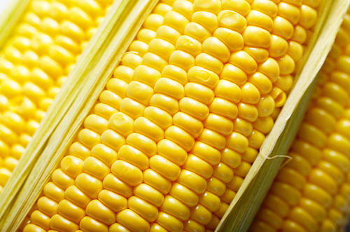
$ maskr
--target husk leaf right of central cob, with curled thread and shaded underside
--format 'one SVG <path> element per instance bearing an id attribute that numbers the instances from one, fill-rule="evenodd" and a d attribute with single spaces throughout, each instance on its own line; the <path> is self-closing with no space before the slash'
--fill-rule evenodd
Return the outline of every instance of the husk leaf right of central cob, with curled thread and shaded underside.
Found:
<path id="1" fill-rule="evenodd" d="M 320 6 L 314 37 L 309 41 L 297 71 L 295 86 L 216 231 L 248 230 L 274 177 L 285 161 L 283 157 L 286 157 L 293 142 L 307 109 L 318 71 L 332 48 L 348 6 L 349 1 L 346 0 L 323 1 L 323 5 Z"/>

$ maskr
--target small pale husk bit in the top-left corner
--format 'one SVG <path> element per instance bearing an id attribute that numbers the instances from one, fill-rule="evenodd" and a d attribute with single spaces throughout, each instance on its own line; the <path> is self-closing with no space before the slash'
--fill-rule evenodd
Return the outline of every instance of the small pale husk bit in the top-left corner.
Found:
<path id="1" fill-rule="evenodd" d="M 0 15 L 0 49 L 6 43 L 30 0 L 13 0 Z"/>

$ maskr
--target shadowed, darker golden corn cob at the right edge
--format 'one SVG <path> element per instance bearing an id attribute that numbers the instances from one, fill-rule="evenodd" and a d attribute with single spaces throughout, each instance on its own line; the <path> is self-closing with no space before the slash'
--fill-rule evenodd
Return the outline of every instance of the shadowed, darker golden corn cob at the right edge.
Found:
<path id="1" fill-rule="evenodd" d="M 339 231 L 350 208 L 350 11 L 251 231 Z"/>

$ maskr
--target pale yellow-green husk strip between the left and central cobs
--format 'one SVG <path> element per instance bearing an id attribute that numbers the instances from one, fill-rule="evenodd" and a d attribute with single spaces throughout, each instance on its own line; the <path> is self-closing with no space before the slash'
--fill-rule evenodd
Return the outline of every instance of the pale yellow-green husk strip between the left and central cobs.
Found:
<path id="1" fill-rule="evenodd" d="M 2 231 L 15 231 L 20 226 L 156 3 L 113 3 L 1 193 Z"/>

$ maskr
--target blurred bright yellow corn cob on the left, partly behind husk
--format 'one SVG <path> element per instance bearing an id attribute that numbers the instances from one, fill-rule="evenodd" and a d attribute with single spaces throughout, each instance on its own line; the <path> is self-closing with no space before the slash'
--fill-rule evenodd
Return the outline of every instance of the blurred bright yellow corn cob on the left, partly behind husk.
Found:
<path id="1" fill-rule="evenodd" d="M 0 51 L 0 193 L 112 1 L 31 1 Z"/>

